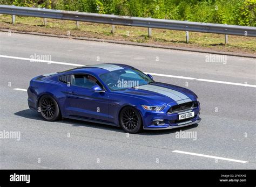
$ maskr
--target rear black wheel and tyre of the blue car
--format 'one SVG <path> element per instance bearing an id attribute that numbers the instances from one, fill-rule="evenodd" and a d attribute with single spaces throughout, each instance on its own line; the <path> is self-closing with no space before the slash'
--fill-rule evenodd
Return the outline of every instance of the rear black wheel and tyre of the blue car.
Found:
<path id="1" fill-rule="evenodd" d="M 56 121 L 60 118 L 60 110 L 56 100 L 50 95 L 39 99 L 38 106 L 43 118 L 47 121 Z"/>

